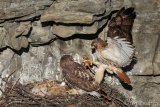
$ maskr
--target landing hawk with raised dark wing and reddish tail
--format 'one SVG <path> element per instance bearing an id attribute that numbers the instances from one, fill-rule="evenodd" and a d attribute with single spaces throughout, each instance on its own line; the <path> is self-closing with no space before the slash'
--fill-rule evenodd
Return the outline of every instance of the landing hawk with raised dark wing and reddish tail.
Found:
<path id="1" fill-rule="evenodd" d="M 108 65 L 108 72 L 115 73 L 121 81 L 130 84 L 129 77 L 121 67 L 130 64 L 135 48 L 132 45 L 132 26 L 136 13 L 134 8 L 120 9 L 108 25 L 107 40 L 96 38 L 91 46 L 96 50 L 99 62 Z"/>

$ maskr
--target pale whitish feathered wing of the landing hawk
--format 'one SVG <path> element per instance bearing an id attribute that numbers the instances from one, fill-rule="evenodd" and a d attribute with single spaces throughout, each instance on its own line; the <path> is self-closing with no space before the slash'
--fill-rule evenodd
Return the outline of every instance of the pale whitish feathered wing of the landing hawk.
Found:
<path id="1" fill-rule="evenodd" d="M 123 38 L 114 37 L 111 39 L 107 37 L 107 43 L 108 46 L 102 49 L 99 55 L 103 63 L 108 60 L 113 65 L 119 67 L 130 64 L 135 53 L 135 49 L 130 45 L 130 42 L 125 41 Z"/>

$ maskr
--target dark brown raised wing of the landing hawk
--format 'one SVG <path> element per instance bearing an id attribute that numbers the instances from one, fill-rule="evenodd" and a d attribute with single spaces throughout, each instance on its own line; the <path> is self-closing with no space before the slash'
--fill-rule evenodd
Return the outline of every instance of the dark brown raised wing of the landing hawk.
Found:
<path id="1" fill-rule="evenodd" d="M 114 38 L 118 36 L 119 38 L 126 38 L 126 40 L 132 44 L 131 31 L 135 18 L 136 13 L 134 8 L 121 8 L 117 15 L 109 22 L 107 37 Z"/>

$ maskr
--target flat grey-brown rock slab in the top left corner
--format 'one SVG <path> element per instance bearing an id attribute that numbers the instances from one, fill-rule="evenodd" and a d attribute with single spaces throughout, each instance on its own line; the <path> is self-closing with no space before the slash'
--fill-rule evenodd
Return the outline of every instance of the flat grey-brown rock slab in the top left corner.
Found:
<path id="1" fill-rule="evenodd" d="M 5 11 L 0 12 L 0 19 L 11 19 L 11 18 L 18 18 L 16 19 L 16 21 L 20 21 L 20 20 L 27 20 L 26 17 L 29 18 L 34 18 L 40 14 L 39 10 L 44 10 L 45 7 L 43 6 L 49 6 L 53 3 L 53 1 L 51 0 L 47 0 L 47 1 L 43 1 L 43 0 L 39 0 L 39 1 L 12 1 L 12 3 L 10 3 L 9 1 L 6 2 L 8 3 L 7 7 L 6 6 L 1 6 L 1 8 L 6 8 Z M 5 2 L 2 2 L 1 4 L 5 4 Z M 9 5 L 10 4 L 10 5 Z M 42 8 L 43 7 L 43 8 Z M 27 11 L 26 11 L 27 10 Z M 36 13 L 36 14 L 35 14 Z M 32 17 L 31 17 L 32 14 Z M 22 18 L 19 18 L 22 17 Z"/>

